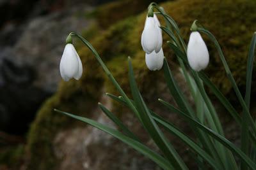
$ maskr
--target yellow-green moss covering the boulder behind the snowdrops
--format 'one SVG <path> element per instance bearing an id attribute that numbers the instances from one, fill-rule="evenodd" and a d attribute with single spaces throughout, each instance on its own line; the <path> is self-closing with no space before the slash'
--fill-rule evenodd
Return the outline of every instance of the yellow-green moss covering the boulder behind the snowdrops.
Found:
<path id="1" fill-rule="evenodd" d="M 209 0 L 206 3 L 204 0 L 180 0 L 164 3 L 163 8 L 177 21 L 186 41 L 188 41 L 189 27 L 195 19 L 198 19 L 205 28 L 212 31 L 223 48 L 227 62 L 239 87 L 243 89 L 245 86 L 247 50 L 256 28 L 256 16 L 254 15 L 256 1 L 226 0 L 219 2 Z M 124 8 L 120 11 L 125 10 L 132 10 L 132 8 Z M 104 8 L 102 11 L 104 11 Z M 112 15 L 116 17 L 120 14 L 111 13 L 111 15 L 104 14 L 102 16 Z M 127 15 L 125 14 L 125 16 Z M 106 24 L 109 24 L 109 22 L 107 23 L 108 20 L 108 17 L 104 18 Z M 104 22 L 100 22 L 100 24 Z M 136 79 L 143 94 L 154 94 L 152 92 L 154 87 L 150 87 L 150 85 L 152 81 L 159 80 L 159 76 L 163 75 L 162 71 L 148 71 L 145 66 L 145 53 L 140 45 L 140 35 L 144 22 L 145 13 L 126 18 L 112 25 L 106 31 L 99 29 L 95 36 L 90 37 L 92 45 L 128 94 L 127 56 L 132 57 Z M 86 36 L 86 32 L 84 34 Z M 164 36 L 164 40 L 167 39 L 167 36 Z M 211 63 L 206 71 L 211 80 L 225 94 L 230 94 L 231 86 L 227 82 L 227 78 L 225 78 L 225 72 L 218 53 L 216 53 L 212 43 L 207 38 L 205 40 L 211 55 Z M 166 45 L 163 48 L 168 60 L 175 60 L 172 51 Z M 74 126 L 72 122 L 76 122 L 60 115 L 60 113 L 55 113 L 52 111 L 53 108 L 90 117 L 90 108 L 96 106 L 97 100 L 102 93 L 99 89 L 102 89 L 103 85 L 106 87 L 107 92 L 116 94 L 115 88 L 103 74 L 92 52 L 86 47 L 81 47 L 79 55 L 84 66 L 81 80 L 61 82 L 58 92 L 42 105 L 42 108 L 37 113 L 35 122 L 31 125 L 26 147 L 30 158 L 29 169 L 52 169 L 57 161 L 52 152 L 52 139 L 60 129 L 72 127 Z M 253 80 L 255 80 L 255 74 L 253 76 Z M 253 85 L 255 85 L 255 81 L 253 81 Z M 256 92 L 256 89 L 252 91 Z M 154 96 L 149 95 L 147 97 Z"/>

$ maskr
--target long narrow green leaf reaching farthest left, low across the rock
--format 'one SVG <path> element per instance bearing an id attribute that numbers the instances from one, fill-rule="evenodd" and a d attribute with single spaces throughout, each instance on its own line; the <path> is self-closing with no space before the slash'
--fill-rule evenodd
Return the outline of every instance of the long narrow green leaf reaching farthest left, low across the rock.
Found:
<path id="1" fill-rule="evenodd" d="M 79 116 L 76 116 L 76 115 L 72 115 L 72 114 L 64 112 L 64 111 L 60 111 L 60 110 L 56 110 L 56 109 L 54 109 L 54 111 L 57 111 L 59 113 L 63 113 L 64 115 L 67 115 L 68 117 L 75 118 L 77 120 L 85 122 L 86 124 L 90 124 L 93 127 L 96 127 L 97 129 L 100 129 L 101 131 L 104 131 L 104 132 L 110 134 L 111 136 L 114 136 L 115 138 L 117 138 L 120 141 L 126 143 L 127 145 L 131 146 L 132 148 L 134 148 L 138 152 L 142 153 L 143 155 L 145 155 L 149 159 L 156 162 L 156 164 L 158 164 L 163 169 L 166 169 L 166 170 L 175 169 L 174 167 L 172 167 L 172 165 L 169 164 L 169 162 L 166 159 L 161 157 L 156 152 L 150 150 L 150 148 L 148 148 L 147 146 L 141 144 L 140 142 L 138 142 L 138 141 L 136 141 L 132 138 L 129 138 L 129 137 L 125 136 L 121 132 L 118 132 L 115 129 L 113 129 L 111 127 L 108 127 L 107 125 L 100 124 L 100 123 L 95 122 L 94 120 L 91 120 L 89 118 L 84 118 L 84 117 L 79 117 Z"/>

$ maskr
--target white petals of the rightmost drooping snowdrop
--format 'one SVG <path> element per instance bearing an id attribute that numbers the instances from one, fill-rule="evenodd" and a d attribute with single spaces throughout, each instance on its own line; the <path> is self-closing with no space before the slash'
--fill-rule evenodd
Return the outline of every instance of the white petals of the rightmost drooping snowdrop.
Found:
<path id="1" fill-rule="evenodd" d="M 199 32 L 191 32 L 188 42 L 188 62 L 195 71 L 205 69 L 209 64 L 209 52 Z"/>

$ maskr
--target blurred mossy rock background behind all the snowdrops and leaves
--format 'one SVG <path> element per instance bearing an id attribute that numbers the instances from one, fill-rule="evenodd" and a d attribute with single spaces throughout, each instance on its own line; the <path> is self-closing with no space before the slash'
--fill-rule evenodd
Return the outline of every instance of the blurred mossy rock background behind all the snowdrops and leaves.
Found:
<path id="1" fill-rule="evenodd" d="M 195 19 L 216 36 L 243 92 L 247 52 L 256 28 L 256 1 L 156 2 L 161 3 L 177 21 L 186 42 L 190 25 Z M 58 108 L 109 124 L 97 109 L 100 101 L 154 148 L 131 113 L 104 97 L 105 92 L 117 93 L 97 60 L 81 42 L 74 41 L 84 66 L 81 80 L 63 82 L 59 73 L 68 32 L 81 32 L 128 94 L 127 56 L 131 56 L 145 100 L 153 110 L 166 113 L 156 104 L 159 97 L 172 101 L 163 81 L 163 72 L 147 69 L 145 53 L 140 45 L 149 3 L 147 0 L 38 0 L 26 3 L 17 0 L 0 3 L 0 169 L 157 169 L 150 160 L 115 139 L 53 111 L 53 108 Z M 163 18 L 159 19 L 164 24 Z M 164 42 L 167 40 L 164 34 Z M 206 73 L 236 106 L 234 92 L 225 78 L 218 53 L 209 39 L 205 38 L 205 41 L 211 60 Z M 165 43 L 163 50 L 184 93 L 189 97 L 175 64 L 176 57 Z M 255 80 L 254 69 L 252 105 L 255 102 Z M 219 106 L 218 102 L 214 103 Z M 252 106 L 252 111 L 255 113 L 255 106 Z M 225 123 L 229 138 L 236 142 L 239 136 L 236 125 L 221 106 L 218 114 Z M 178 117 L 168 113 L 166 116 L 182 125 Z M 186 125 L 183 124 L 182 128 L 189 132 Z M 179 152 L 193 169 L 193 161 L 186 158 L 186 148 L 182 148 L 174 137 L 170 136 L 170 139 L 180 148 Z M 116 160 L 120 164 L 113 164 Z"/>

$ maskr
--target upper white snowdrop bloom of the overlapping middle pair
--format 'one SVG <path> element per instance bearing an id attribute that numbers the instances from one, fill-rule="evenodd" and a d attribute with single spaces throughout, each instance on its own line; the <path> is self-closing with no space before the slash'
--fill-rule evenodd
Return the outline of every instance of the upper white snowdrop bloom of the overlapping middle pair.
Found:
<path id="1" fill-rule="evenodd" d="M 159 26 L 160 23 L 155 14 L 152 17 L 147 16 L 145 27 L 141 34 L 141 46 L 148 54 L 153 51 L 158 53 L 162 48 L 163 38 Z"/>

